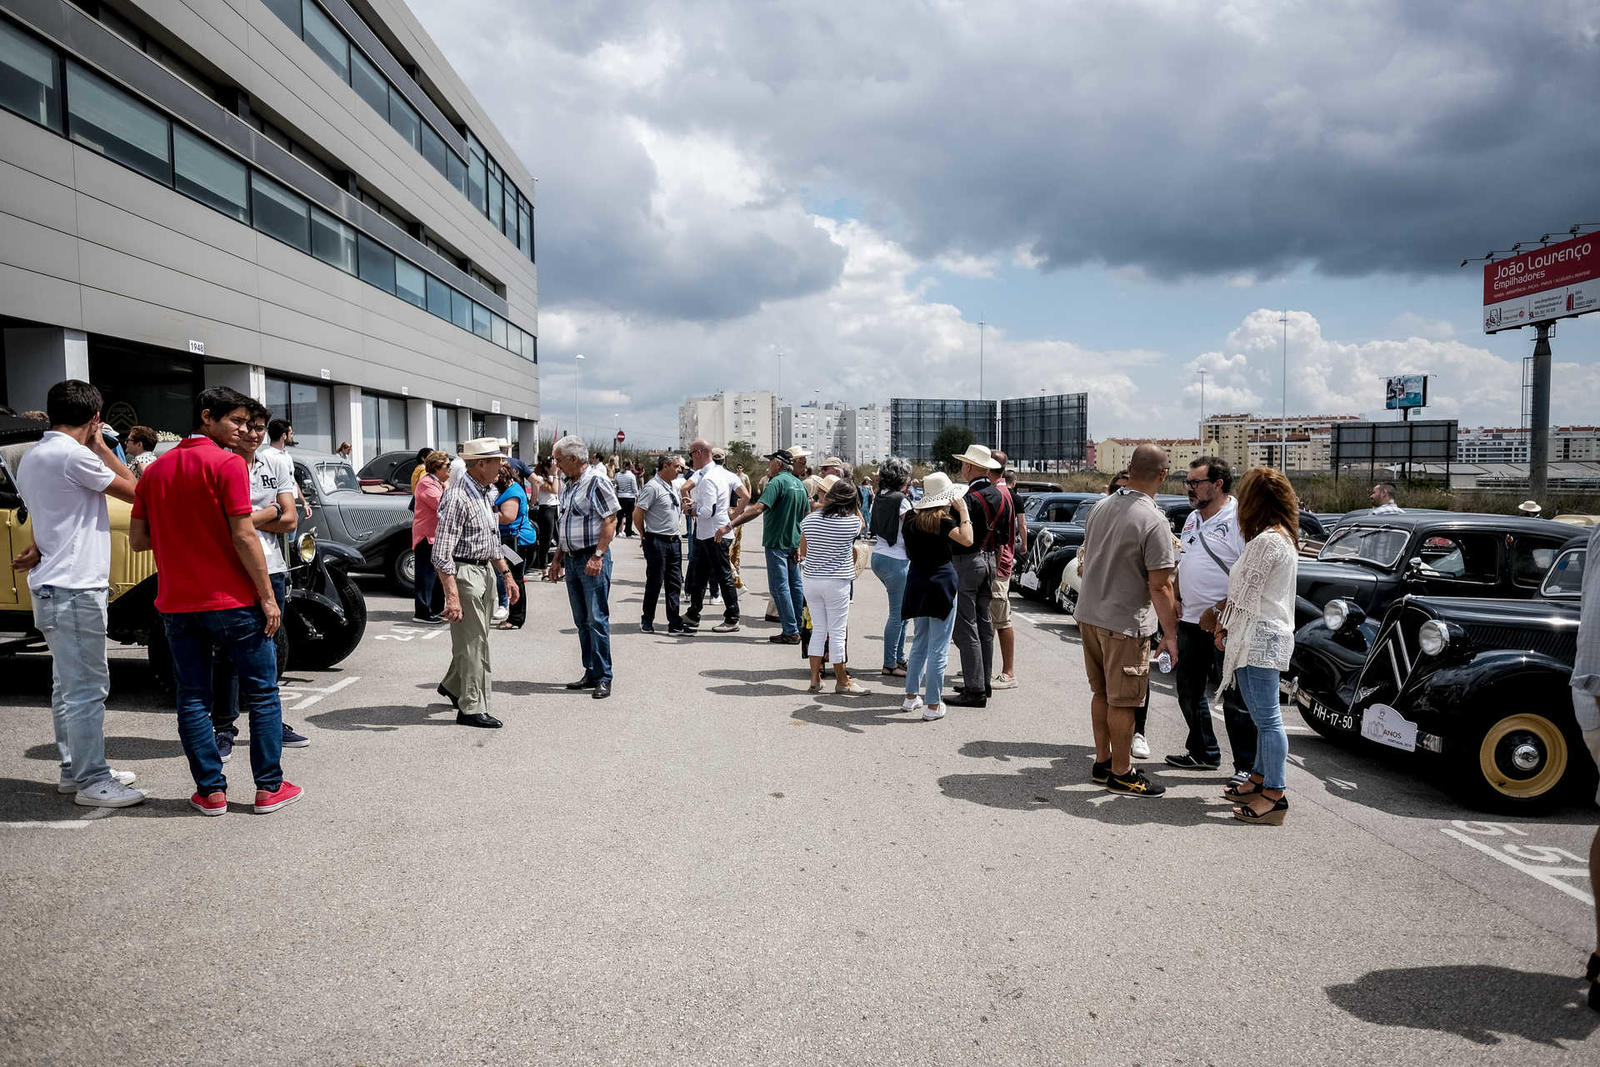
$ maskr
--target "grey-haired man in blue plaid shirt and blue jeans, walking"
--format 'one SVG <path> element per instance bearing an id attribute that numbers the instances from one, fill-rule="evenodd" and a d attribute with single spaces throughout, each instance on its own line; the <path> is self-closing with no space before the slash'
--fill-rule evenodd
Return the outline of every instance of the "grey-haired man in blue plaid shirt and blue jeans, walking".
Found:
<path id="1" fill-rule="evenodd" d="M 568 681 L 568 689 L 594 689 L 603 701 L 611 696 L 611 539 L 616 537 L 616 490 L 605 467 L 589 464 L 589 448 L 578 437 L 563 437 L 552 450 L 555 466 L 566 478 L 557 523 L 555 557 L 549 577 L 566 571 L 566 601 L 578 625 L 578 646 L 584 677 Z"/>

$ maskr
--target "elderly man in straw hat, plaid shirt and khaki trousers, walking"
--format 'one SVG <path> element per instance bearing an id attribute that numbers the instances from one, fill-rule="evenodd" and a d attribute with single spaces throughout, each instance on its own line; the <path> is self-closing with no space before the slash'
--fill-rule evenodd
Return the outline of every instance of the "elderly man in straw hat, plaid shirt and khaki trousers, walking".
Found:
<path id="1" fill-rule="evenodd" d="M 434 531 L 434 569 L 445 587 L 450 622 L 450 670 L 438 683 L 438 694 L 454 705 L 459 725 L 498 729 L 501 720 L 490 715 L 490 617 L 498 601 L 496 585 L 506 587 L 507 603 L 522 595 L 490 506 L 490 486 L 506 458 L 498 440 L 480 437 L 461 446 L 461 462 L 462 477 L 448 482 Z"/>

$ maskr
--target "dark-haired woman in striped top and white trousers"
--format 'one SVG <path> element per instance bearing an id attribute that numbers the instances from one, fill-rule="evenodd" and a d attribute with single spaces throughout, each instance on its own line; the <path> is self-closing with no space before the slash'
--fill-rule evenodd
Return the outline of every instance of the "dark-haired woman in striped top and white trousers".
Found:
<path id="1" fill-rule="evenodd" d="M 845 670 L 850 587 L 856 581 L 853 545 L 861 533 L 861 498 L 846 478 L 834 482 L 821 507 L 800 520 L 800 585 L 811 611 L 811 693 L 822 689 L 822 646 L 834 664 L 834 693 L 869 693 Z"/>

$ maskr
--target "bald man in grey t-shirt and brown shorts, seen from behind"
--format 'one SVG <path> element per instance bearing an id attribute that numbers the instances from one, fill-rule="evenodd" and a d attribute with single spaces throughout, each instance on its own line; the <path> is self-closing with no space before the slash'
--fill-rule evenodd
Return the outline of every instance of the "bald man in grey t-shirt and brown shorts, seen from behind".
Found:
<path id="1" fill-rule="evenodd" d="M 1098 502 L 1083 523 L 1083 592 L 1075 614 L 1094 691 L 1093 777 L 1131 797 L 1166 792 L 1133 766 L 1133 725 L 1149 693 L 1157 624 L 1162 649 L 1179 662 L 1173 528 L 1154 499 L 1165 478 L 1166 453 L 1139 445 L 1128 462 L 1128 485 Z"/>

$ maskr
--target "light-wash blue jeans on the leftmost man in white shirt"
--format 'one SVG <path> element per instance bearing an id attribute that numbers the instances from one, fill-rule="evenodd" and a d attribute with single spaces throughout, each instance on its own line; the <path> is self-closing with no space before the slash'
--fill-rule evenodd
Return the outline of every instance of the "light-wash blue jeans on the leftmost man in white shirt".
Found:
<path id="1" fill-rule="evenodd" d="M 61 776 L 88 789 L 110 777 L 106 766 L 106 590 L 34 590 L 34 625 L 50 646 L 50 715 L 56 725 Z"/>

